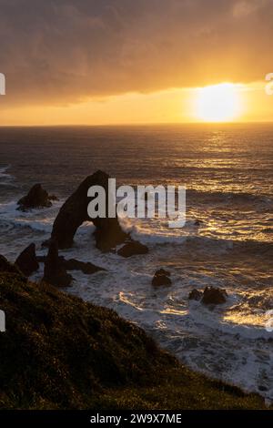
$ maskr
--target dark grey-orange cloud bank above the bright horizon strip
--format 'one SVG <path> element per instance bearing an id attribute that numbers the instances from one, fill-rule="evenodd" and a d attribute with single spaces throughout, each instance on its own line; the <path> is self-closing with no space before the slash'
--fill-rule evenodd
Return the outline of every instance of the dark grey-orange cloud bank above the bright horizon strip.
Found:
<path id="1" fill-rule="evenodd" d="M 263 79 L 272 0 L 0 0 L 6 102 Z"/>

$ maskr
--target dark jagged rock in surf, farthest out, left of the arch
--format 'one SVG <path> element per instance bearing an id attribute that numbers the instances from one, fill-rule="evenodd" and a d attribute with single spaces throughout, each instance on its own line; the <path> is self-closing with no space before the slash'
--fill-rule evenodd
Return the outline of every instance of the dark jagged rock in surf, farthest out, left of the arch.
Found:
<path id="1" fill-rule="evenodd" d="M 40 184 L 35 184 L 26 196 L 18 200 L 18 209 L 26 211 L 27 209 L 48 208 L 52 206 L 51 199 L 56 199 L 56 197 L 48 195 Z"/>

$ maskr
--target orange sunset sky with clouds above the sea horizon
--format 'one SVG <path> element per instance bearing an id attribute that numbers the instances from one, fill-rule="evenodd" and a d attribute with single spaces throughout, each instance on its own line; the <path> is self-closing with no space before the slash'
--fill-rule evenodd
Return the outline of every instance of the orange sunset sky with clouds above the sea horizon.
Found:
<path id="1" fill-rule="evenodd" d="M 0 0 L 0 125 L 271 121 L 272 36 L 272 0 Z"/>

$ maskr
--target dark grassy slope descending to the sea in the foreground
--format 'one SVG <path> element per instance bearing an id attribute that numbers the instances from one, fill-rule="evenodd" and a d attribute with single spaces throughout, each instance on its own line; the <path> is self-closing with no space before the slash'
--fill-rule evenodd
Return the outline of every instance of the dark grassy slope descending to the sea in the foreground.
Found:
<path id="1" fill-rule="evenodd" d="M 0 408 L 255 409 L 191 372 L 115 311 L 0 273 Z"/>

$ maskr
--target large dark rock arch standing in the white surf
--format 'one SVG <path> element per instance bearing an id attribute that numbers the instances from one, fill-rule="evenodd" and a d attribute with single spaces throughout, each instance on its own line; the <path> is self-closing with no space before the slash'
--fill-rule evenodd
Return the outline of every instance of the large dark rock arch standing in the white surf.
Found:
<path id="1" fill-rule="evenodd" d="M 106 190 L 107 213 L 108 178 L 105 172 L 96 171 L 92 176 L 88 176 L 66 200 L 56 217 L 51 235 L 56 239 L 60 249 L 72 246 L 76 229 L 84 221 L 92 221 L 96 226 L 95 239 L 99 250 L 109 251 L 129 238 L 129 235 L 121 229 L 117 218 L 90 219 L 87 215 L 87 206 L 91 200 L 87 197 L 87 191 L 92 186 L 102 186 Z"/>

